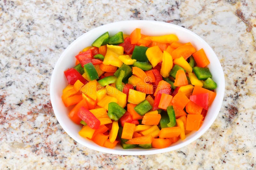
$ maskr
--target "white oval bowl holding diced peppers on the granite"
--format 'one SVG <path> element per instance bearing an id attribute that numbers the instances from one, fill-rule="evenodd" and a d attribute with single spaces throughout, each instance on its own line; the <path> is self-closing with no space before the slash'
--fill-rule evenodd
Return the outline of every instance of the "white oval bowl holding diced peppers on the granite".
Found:
<path id="1" fill-rule="evenodd" d="M 196 50 L 204 49 L 207 57 L 210 60 L 209 69 L 212 73 L 212 79 L 217 83 L 218 87 L 216 89 L 216 97 L 209 107 L 207 116 L 201 128 L 198 131 L 193 131 L 186 135 L 186 139 L 179 140 L 173 143 L 171 146 L 164 149 L 143 149 L 143 148 L 133 148 L 133 149 L 123 149 L 120 145 L 117 145 L 114 149 L 108 149 L 101 147 L 92 141 L 81 137 L 78 132 L 81 130 L 82 126 L 76 125 L 68 117 L 68 112 L 70 108 L 66 108 L 62 103 L 61 95 L 62 89 L 64 89 L 68 82 L 64 76 L 64 71 L 67 68 L 75 66 L 75 55 L 79 51 L 83 50 L 87 46 L 91 46 L 92 42 L 105 32 L 109 32 L 109 35 L 114 35 L 119 31 L 123 31 L 124 34 L 130 34 L 135 28 L 141 28 L 141 33 L 144 35 L 166 35 L 166 34 L 176 34 L 180 42 L 191 42 Z M 132 21 L 120 21 L 114 22 L 107 25 L 103 25 L 88 31 L 84 35 L 78 37 L 73 43 L 71 43 L 66 50 L 62 53 L 59 60 L 57 61 L 55 68 L 52 73 L 51 85 L 50 85 L 50 95 L 52 108 L 55 113 L 57 120 L 59 121 L 62 128 L 67 132 L 67 134 L 72 137 L 78 143 L 91 148 L 96 151 L 119 154 L 119 155 L 148 155 L 163 153 L 168 151 L 173 151 L 179 149 L 189 143 L 195 141 L 201 135 L 203 135 L 208 128 L 212 125 L 216 119 L 224 97 L 225 90 L 225 79 L 220 61 L 216 54 L 213 52 L 212 48 L 198 35 L 189 31 L 186 28 L 158 21 L 147 21 L 147 20 L 132 20 Z"/>

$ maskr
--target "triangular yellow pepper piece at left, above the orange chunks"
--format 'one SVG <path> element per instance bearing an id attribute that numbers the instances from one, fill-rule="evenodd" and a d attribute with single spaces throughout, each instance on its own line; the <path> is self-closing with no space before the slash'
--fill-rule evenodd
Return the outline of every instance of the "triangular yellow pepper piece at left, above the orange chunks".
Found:
<path id="1" fill-rule="evenodd" d="M 87 96 L 91 97 L 93 100 L 97 99 L 97 86 L 98 82 L 96 80 L 89 81 L 85 84 L 81 91 L 86 94 Z"/>

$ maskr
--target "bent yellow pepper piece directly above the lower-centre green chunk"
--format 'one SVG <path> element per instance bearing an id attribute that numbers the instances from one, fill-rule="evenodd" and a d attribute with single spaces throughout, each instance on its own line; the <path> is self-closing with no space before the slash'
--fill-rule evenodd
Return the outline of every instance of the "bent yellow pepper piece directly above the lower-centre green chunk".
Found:
<path id="1" fill-rule="evenodd" d="M 119 104 L 121 107 L 125 107 L 126 106 L 126 94 L 117 90 L 115 87 L 106 86 L 106 93 L 108 94 L 108 96 L 111 97 L 115 97 L 117 99 L 117 104 Z"/>

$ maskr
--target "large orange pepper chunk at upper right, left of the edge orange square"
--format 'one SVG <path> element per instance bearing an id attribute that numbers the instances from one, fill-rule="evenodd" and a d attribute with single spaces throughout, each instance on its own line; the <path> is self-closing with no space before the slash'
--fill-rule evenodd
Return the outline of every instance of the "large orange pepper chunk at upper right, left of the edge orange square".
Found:
<path id="1" fill-rule="evenodd" d="M 193 45 L 185 44 L 172 51 L 172 58 L 175 59 L 183 57 L 185 60 L 187 60 L 188 57 L 194 52 L 196 52 L 196 49 L 193 47 Z"/>

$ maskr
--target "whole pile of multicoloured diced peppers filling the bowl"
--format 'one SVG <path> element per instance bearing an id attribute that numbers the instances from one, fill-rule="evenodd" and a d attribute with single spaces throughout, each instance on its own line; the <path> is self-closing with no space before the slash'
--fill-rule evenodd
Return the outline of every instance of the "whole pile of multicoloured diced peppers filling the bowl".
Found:
<path id="1" fill-rule="evenodd" d="M 108 32 L 75 56 L 62 100 L 79 135 L 124 149 L 165 148 L 202 125 L 217 84 L 203 49 L 176 35 Z"/>

